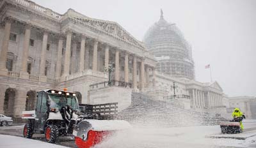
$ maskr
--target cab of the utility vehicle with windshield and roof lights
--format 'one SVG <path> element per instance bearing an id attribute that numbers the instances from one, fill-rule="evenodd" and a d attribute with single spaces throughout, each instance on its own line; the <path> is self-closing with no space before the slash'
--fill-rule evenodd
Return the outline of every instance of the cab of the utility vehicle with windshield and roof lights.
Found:
<path id="1" fill-rule="evenodd" d="M 44 133 L 44 128 L 49 120 L 61 122 L 63 118 L 60 110 L 67 105 L 74 110 L 79 110 L 75 93 L 56 90 L 38 92 L 35 110 L 35 133 Z"/>

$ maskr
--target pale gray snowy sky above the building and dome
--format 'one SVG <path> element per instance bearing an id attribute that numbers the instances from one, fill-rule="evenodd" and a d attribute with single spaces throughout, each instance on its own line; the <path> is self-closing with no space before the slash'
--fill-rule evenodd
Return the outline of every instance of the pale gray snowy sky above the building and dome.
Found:
<path id="1" fill-rule="evenodd" d="M 217 80 L 228 96 L 256 96 L 256 0 L 33 0 L 58 13 L 72 8 L 118 22 L 138 40 L 164 19 L 192 45 L 196 80 Z"/>

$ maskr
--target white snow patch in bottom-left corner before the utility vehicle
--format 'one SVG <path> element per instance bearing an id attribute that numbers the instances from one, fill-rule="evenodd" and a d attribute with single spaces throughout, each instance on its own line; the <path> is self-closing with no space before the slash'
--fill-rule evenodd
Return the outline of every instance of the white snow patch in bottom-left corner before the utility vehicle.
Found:
<path id="1" fill-rule="evenodd" d="M 0 147 L 10 147 L 10 148 L 65 148 L 61 145 L 48 144 L 46 142 L 41 142 L 38 140 L 14 137 L 9 135 L 0 135 Z M 67 148 L 67 147 L 66 147 Z"/>

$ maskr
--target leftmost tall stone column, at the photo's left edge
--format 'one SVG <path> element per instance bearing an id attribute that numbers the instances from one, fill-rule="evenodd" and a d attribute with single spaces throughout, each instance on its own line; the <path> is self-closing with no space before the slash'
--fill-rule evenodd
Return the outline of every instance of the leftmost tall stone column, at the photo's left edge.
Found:
<path id="1" fill-rule="evenodd" d="M 10 40 L 10 30 L 11 30 L 11 20 L 6 20 L 4 26 L 4 38 L 1 47 L 0 54 L 0 75 L 8 75 L 8 70 L 6 69 L 6 60 L 7 60 L 7 52 L 9 47 Z"/>

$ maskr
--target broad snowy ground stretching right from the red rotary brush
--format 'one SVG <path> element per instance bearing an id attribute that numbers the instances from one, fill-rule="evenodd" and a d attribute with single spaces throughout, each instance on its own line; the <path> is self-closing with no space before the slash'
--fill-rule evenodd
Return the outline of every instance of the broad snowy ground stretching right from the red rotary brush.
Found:
<path id="1" fill-rule="evenodd" d="M 244 126 L 246 125 L 247 124 L 244 124 Z M 256 128 L 256 123 L 248 124 L 248 127 Z M 254 132 L 256 134 L 256 129 Z M 256 147 L 256 136 L 246 138 L 246 140 L 207 138 L 208 135 L 220 133 L 220 126 L 193 126 L 182 128 L 134 127 L 129 129 L 129 131 L 117 132 L 96 147 Z"/>

